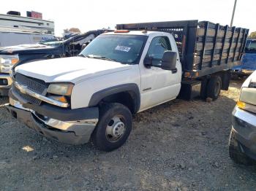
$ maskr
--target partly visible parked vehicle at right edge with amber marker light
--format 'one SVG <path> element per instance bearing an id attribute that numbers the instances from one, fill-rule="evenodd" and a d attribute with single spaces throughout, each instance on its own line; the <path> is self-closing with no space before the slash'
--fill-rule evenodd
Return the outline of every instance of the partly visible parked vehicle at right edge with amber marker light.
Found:
<path id="1" fill-rule="evenodd" d="M 229 152 L 236 163 L 256 161 L 256 71 L 242 85 L 233 110 Z"/>

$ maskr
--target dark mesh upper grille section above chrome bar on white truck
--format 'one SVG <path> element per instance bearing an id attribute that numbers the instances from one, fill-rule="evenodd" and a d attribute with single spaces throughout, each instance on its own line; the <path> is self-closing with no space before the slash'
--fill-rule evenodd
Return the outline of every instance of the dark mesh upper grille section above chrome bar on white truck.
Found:
<path id="1" fill-rule="evenodd" d="M 28 88 L 31 91 L 34 91 L 35 93 L 46 95 L 45 90 L 48 87 L 48 85 L 40 79 L 26 77 L 23 74 L 16 73 L 15 81 L 18 82 L 20 85 L 26 86 L 26 88 Z"/>

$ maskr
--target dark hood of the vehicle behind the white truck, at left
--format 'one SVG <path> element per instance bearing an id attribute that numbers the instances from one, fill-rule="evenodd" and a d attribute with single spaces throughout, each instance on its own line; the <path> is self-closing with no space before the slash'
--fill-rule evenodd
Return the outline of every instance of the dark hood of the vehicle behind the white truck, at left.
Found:
<path id="1" fill-rule="evenodd" d="M 56 47 L 45 44 L 20 44 L 17 46 L 0 47 L 0 54 L 39 54 L 53 49 L 56 49 Z"/>

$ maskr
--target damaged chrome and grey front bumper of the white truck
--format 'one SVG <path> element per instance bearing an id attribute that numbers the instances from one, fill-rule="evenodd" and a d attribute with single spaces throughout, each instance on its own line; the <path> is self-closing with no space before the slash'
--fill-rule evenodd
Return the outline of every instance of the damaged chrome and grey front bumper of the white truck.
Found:
<path id="1" fill-rule="evenodd" d="M 6 108 L 13 117 L 24 122 L 29 128 L 50 139 L 67 144 L 87 143 L 97 125 L 99 115 L 99 111 L 95 107 L 79 109 L 79 111 L 69 109 L 66 114 L 64 109 L 61 109 L 58 114 L 58 108 L 55 106 L 42 108 L 37 106 L 33 110 L 32 106 L 26 104 L 24 107 L 13 96 L 10 96 L 10 104 L 7 104 Z M 56 116 L 58 119 L 53 119 L 50 116 Z"/>

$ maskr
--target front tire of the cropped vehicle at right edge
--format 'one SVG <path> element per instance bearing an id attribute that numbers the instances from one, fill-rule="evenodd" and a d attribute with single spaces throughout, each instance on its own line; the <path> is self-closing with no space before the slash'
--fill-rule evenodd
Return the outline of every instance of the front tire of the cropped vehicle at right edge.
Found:
<path id="1" fill-rule="evenodd" d="M 244 152 L 241 151 L 239 148 L 240 145 L 238 141 L 236 141 L 235 134 L 233 130 L 230 132 L 230 140 L 228 143 L 229 146 L 229 154 L 230 158 L 238 164 L 243 164 L 243 165 L 253 165 L 255 162 L 248 156 L 244 154 Z"/>

